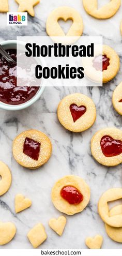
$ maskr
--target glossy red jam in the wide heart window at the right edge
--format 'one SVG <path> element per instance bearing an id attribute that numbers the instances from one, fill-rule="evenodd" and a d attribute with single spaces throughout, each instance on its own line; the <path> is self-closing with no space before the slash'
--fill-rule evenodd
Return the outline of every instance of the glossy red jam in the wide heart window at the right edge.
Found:
<path id="1" fill-rule="evenodd" d="M 122 153 L 122 141 L 114 140 L 109 135 L 104 135 L 100 141 L 102 153 L 106 157 L 117 156 Z"/>

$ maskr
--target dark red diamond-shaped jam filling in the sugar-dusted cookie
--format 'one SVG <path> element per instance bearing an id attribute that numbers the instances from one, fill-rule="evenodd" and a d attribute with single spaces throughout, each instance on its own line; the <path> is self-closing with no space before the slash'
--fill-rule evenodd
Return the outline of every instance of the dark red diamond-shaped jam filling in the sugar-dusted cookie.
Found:
<path id="1" fill-rule="evenodd" d="M 26 156 L 37 161 L 39 158 L 40 146 L 41 144 L 39 142 L 29 138 L 25 138 L 23 153 Z"/>

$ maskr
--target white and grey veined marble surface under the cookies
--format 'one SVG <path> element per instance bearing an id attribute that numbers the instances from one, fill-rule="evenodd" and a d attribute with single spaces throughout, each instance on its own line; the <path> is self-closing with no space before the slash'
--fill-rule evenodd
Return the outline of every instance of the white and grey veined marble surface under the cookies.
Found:
<path id="1" fill-rule="evenodd" d="M 101 6 L 101 1 L 98 1 Z M 102 4 L 108 3 L 102 1 Z M 9 0 L 10 11 L 17 11 L 18 5 Z M 88 16 L 81 0 L 41 0 L 35 7 L 35 18 L 28 17 L 27 27 L 6 26 L 6 14 L 0 14 L 0 40 L 16 39 L 19 36 L 46 35 L 45 21 L 51 10 L 58 6 L 71 6 L 77 9 L 84 23 L 83 35 L 103 36 L 107 43 L 117 50 L 122 62 L 120 48 L 121 36 L 119 24 L 122 7 L 109 20 L 96 20 Z M 65 29 L 68 24 L 62 23 Z M 122 66 L 122 63 L 121 63 Z M 47 87 L 42 97 L 28 109 L 18 112 L 0 110 L 0 145 L 1 160 L 9 165 L 12 172 L 12 185 L 0 198 L 1 221 L 12 221 L 17 226 L 17 235 L 11 243 L 1 248 L 32 248 L 26 234 L 36 223 L 42 222 L 48 239 L 40 248 L 86 248 L 84 240 L 97 233 L 103 235 L 102 248 L 122 248 L 105 233 L 104 224 L 99 217 L 97 204 L 100 195 L 107 189 L 121 187 L 121 165 L 114 168 L 103 167 L 97 163 L 90 152 L 90 139 L 93 134 L 104 127 L 121 129 L 122 121 L 113 109 L 111 98 L 115 86 L 121 81 L 121 71 L 116 78 L 103 87 Z M 93 127 L 83 133 L 65 130 L 58 122 L 56 109 L 58 102 L 70 93 L 81 92 L 91 97 L 97 108 L 97 119 Z M 12 157 L 12 141 L 20 132 L 38 129 L 46 133 L 53 145 L 53 154 L 49 162 L 40 169 L 22 168 Z M 62 237 L 56 235 L 48 226 L 52 217 L 60 216 L 51 202 L 51 189 L 57 179 L 64 175 L 75 174 L 84 178 L 91 188 L 91 199 L 86 209 L 77 215 L 67 216 L 67 225 Z M 33 204 L 22 213 L 14 212 L 14 197 L 22 193 L 32 199 Z M 111 207 L 111 205 L 110 205 Z"/>

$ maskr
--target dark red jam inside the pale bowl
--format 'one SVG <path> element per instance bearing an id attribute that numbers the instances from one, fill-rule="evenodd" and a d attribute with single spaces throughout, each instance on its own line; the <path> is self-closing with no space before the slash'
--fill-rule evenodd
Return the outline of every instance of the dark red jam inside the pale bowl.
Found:
<path id="1" fill-rule="evenodd" d="M 16 61 L 17 50 L 6 50 L 8 54 Z M 36 86 L 17 86 L 17 66 L 10 65 L 0 54 L 0 101 L 18 105 L 32 99 L 37 93 L 39 87 Z"/>

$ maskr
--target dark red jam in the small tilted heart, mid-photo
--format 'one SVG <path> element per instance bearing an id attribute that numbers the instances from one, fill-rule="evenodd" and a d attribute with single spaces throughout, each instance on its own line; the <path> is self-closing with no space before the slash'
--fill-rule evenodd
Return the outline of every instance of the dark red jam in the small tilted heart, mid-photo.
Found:
<path id="1" fill-rule="evenodd" d="M 70 111 L 73 118 L 74 123 L 86 112 L 85 106 L 78 107 L 76 104 L 70 105 Z"/>

